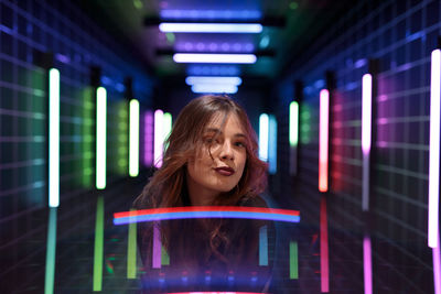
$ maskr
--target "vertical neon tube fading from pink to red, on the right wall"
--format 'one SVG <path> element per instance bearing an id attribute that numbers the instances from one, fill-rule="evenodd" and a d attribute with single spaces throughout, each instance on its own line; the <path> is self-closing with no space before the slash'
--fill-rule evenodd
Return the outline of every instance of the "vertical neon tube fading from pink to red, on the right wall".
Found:
<path id="1" fill-rule="evenodd" d="M 320 91 L 319 190 L 327 192 L 330 92 Z"/>

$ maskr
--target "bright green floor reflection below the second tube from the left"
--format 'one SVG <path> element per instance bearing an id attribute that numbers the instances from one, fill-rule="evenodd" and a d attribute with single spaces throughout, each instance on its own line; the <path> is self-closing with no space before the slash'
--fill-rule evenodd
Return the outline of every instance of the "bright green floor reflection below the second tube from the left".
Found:
<path id="1" fill-rule="evenodd" d="M 98 197 L 95 220 L 95 249 L 94 249 L 94 291 L 103 290 L 103 260 L 104 260 L 104 198 Z"/>

